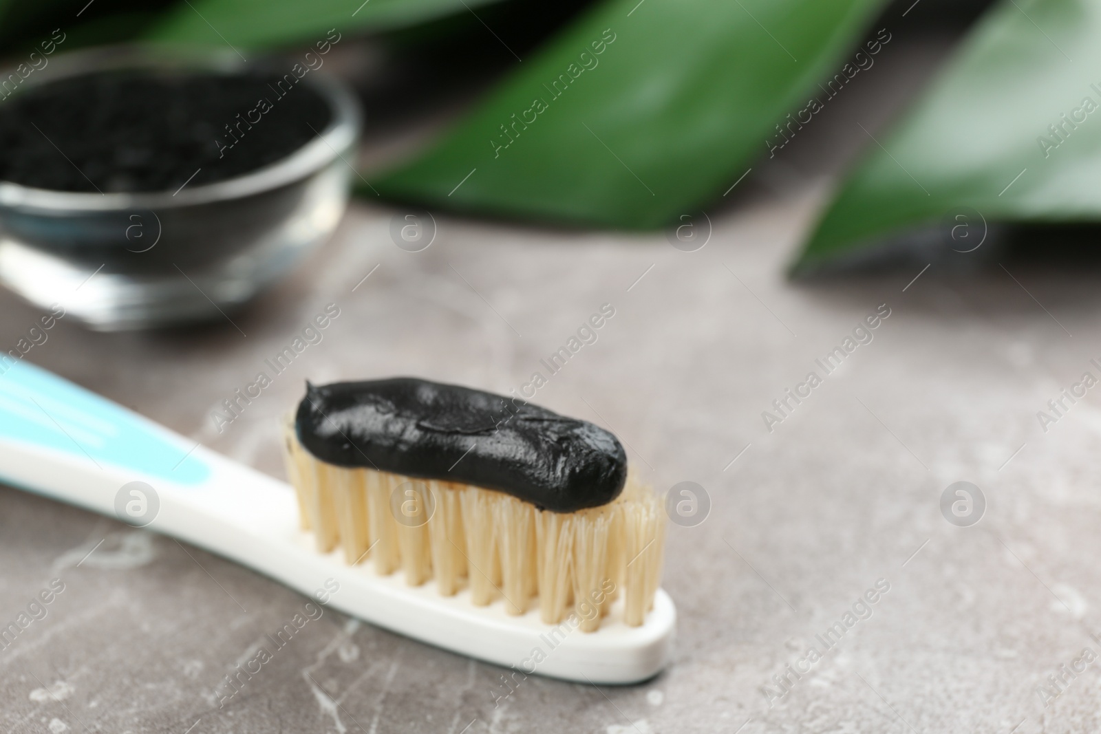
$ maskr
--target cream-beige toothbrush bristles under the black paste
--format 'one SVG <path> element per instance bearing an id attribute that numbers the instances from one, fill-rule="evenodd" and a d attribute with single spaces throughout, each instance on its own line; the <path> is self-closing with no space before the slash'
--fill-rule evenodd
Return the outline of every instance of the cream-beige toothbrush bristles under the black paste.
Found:
<path id="1" fill-rule="evenodd" d="M 290 420 L 283 448 L 302 529 L 320 552 L 339 546 L 347 562 L 402 569 L 411 585 L 435 579 L 448 596 L 469 588 L 475 605 L 501 600 L 509 614 L 537 607 L 547 624 L 574 612 L 584 632 L 599 628 L 619 598 L 631 626 L 653 606 L 665 513 L 633 475 L 607 505 L 554 513 L 469 484 L 319 461 Z"/>

